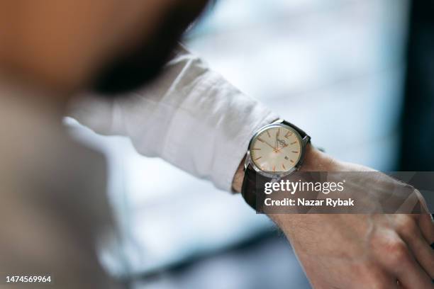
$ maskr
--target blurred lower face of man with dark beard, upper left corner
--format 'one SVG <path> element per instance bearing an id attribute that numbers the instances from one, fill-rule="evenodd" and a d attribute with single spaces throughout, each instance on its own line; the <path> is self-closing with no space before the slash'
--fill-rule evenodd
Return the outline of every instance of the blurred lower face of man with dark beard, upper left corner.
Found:
<path id="1" fill-rule="evenodd" d="M 0 72 L 57 91 L 134 89 L 157 74 L 207 0 L 0 3 Z"/>

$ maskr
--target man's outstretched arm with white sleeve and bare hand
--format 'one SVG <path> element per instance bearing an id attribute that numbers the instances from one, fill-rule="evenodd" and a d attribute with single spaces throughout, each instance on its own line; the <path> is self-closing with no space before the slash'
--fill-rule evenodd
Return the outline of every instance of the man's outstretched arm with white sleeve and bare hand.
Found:
<path id="1" fill-rule="evenodd" d="M 87 98 L 76 103 L 72 116 L 101 134 L 126 135 L 141 154 L 238 192 L 250 138 L 278 118 L 185 50 L 143 91 L 111 101 Z M 301 169 L 354 171 L 360 166 L 338 162 L 309 145 Z M 269 217 L 294 246 L 315 288 L 396 288 L 397 279 L 406 288 L 431 288 L 434 258 L 428 242 L 434 233 L 427 216 Z M 401 237 L 406 231 L 401 223 L 416 237 L 408 232 Z"/>

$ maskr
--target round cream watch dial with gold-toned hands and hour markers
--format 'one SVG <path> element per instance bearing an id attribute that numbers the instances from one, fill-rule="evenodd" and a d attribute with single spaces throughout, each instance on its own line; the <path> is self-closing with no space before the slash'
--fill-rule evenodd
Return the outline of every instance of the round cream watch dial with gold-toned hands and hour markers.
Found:
<path id="1" fill-rule="evenodd" d="M 250 157 L 260 171 L 284 173 L 299 163 L 301 149 L 301 137 L 296 130 L 275 124 L 265 127 L 253 137 Z"/>

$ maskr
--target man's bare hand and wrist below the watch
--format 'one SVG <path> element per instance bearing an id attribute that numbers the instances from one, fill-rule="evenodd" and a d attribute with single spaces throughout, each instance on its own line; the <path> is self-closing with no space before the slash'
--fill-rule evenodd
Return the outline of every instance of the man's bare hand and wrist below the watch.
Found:
<path id="1" fill-rule="evenodd" d="M 335 161 L 311 146 L 301 169 L 369 170 Z M 240 179 L 235 175 L 234 189 Z M 434 225 L 428 212 L 269 217 L 291 242 L 313 288 L 434 288 Z"/>

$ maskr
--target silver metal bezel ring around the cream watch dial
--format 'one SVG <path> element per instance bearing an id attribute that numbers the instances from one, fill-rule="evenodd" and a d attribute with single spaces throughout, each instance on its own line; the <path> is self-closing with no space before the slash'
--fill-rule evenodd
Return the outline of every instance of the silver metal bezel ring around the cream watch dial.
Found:
<path id="1" fill-rule="evenodd" d="M 292 132 L 294 132 L 294 134 L 296 135 L 297 139 L 300 142 L 300 149 L 301 149 L 301 153 L 300 153 L 300 157 L 297 161 L 297 163 L 294 165 L 294 167 L 292 167 L 289 171 L 277 171 L 277 172 L 267 172 L 267 171 L 262 171 L 260 168 L 257 167 L 257 165 L 255 164 L 255 162 L 253 162 L 251 154 L 250 154 L 250 148 L 252 147 L 252 143 L 253 140 L 255 140 L 258 135 L 260 135 L 262 132 L 265 132 L 265 130 L 269 130 L 270 128 L 286 128 L 291 130 Z M 255 135 L 252 136 L 252 138 L 250 139 L 249 145 L 248 145 L 248 149 L 247 149 L 247 156 L 245 158 L 245 169 L 247 169 L 249 166 L 252 167 L 252 169 L 254 169 L 258 174 L 262 175 L 262 176 L 266 176 L 268 178 L 272 178 L 272 179 L 277 179 L 277 178 L 282 178 L 283 176 L 288 176 L 289 174 L 293 173 L 294 171 L 297 171 L 301 164 L 303 164 L 303 160 L 304 160 L 304 153 L 306 151 L 306 144 L 308 143 L 308 141 L 310 140 L 310 137 L 308 135 L 306 135 L 306 137 L 301 137 L 300 133 L 293 127 L 291 127 L 291 125 L 286 125 L 284 123 L 271 123 L 269 125 L 265 125 L 262 128 L 260 128 L 259 130 L 257 130 L 257 132 L 255 132 Z"/>

